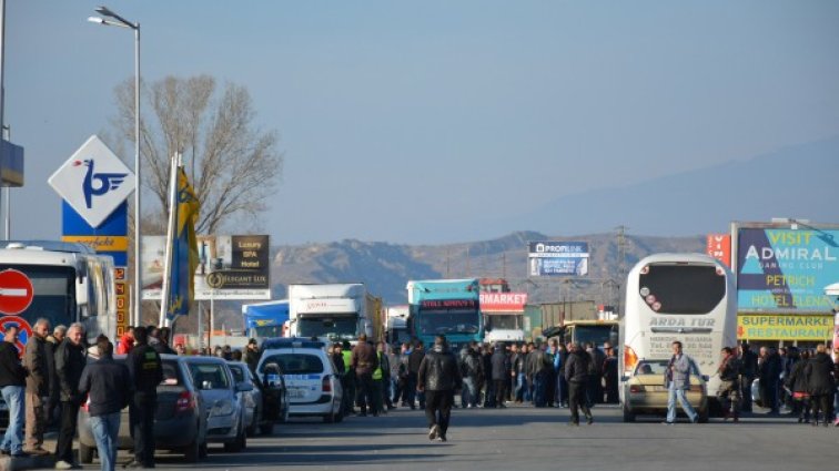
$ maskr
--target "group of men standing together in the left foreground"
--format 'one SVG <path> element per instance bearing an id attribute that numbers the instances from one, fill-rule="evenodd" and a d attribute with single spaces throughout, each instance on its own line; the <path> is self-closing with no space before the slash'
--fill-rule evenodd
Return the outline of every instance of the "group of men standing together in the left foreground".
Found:
<path id="1" fill-rule="evenodd" d="M 134 459 L 128 469 L 154 468 L 154 410 L 156 387 L 163 379 L 162 354 L 169 347 L 168 328 L 131 327 L 114 346 L 100 335 L 93 345 L 85 340 L 84 326 L 57 326 L 38 319 L 24 346 L 18 350 L 19 329 L 7 325 L 0 342 L 0 390 L 9 408 L 9 424 L 0 452 L 11 457 L 50 455 L 55 469 L 81 469 L 73 454 L 73 439 L 80 407 L 85 403 L 99 452 L 101 469 L 115 468 L 118 432 L 122 409 L 129 408 Z M 44 431 L 58 426 L 55 449 L 44 446 Z"/>

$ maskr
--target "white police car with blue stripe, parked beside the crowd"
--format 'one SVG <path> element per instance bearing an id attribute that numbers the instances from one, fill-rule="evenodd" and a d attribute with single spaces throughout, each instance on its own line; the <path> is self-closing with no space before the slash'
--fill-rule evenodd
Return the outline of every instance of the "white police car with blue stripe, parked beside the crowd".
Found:
<path id="1" fill-rule="evenodd" d="M 264 383 L 282 375 L 289 395 L 289 414 L 320 416 L 324 422 L 344 419 L 343 390 L 324 342 L 300 338 L 269 339 L 262 344 L 256 373 Z"/>

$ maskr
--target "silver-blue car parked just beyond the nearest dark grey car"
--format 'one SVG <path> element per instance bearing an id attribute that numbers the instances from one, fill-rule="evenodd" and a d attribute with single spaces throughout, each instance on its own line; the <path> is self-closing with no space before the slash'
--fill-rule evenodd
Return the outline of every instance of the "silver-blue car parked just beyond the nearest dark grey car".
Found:
<path id="1" fill-rule="evenodd" d="M 206 441 L 223 443 L 225 451 L 241 451 L 247 446 L 245 408 L 239 393 L 252 391 L 253 385 L 236 383 L 228 362 L 216 357 L 181 357 L 199 387 L 208 408 Z"/>

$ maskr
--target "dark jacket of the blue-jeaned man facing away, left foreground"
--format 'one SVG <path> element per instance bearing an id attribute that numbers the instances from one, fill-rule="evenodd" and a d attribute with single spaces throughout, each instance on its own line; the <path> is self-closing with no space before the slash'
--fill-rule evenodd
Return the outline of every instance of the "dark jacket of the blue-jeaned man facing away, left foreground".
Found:
<path id="1" fill-rule="evenodd" d="M 89 393 L 91 416 L 104 416 L 121 411 L 131 397 L 131 375 L 125 365 L 113 357 L 100 358 L 88 365 L 79 381 L 79 391 Z"/>

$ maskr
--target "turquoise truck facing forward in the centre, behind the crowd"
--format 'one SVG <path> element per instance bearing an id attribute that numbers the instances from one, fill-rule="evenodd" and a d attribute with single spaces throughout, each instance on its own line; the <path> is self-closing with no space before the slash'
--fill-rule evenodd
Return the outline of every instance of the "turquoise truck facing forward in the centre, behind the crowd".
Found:
<path id="1" fill-rule="evenodd" d="M 427 348 L 445 335 L 453 351 L 484 339 L 477 278 L 411 280 L 407 283 L 408 331 Z"/>

